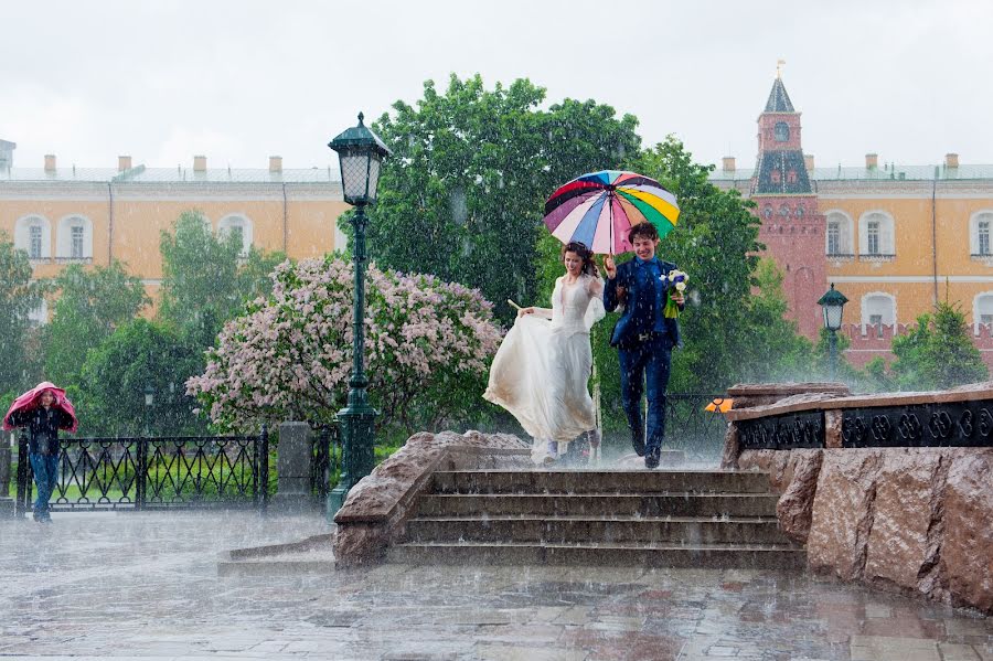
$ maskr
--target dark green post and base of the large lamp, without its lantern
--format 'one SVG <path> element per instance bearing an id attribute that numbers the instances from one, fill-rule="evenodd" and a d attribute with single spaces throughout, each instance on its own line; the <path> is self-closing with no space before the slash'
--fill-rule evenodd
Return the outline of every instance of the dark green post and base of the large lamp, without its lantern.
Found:
<path id="1" fill-rule="evenodd" d="M 328 518 L 333 518 L 344 503 L 349 490 L 372 472 L 375 463 L 373 444 L 376 411 L 370 406 L 365 391 L 365 205 L 357 204 L 352 216 L 355 230 L 355 298 L 352 306 L 352 377 L 349 380 L 349 405 L 339 412 L 343 443 L 341 479 L 328 494 Z"/>

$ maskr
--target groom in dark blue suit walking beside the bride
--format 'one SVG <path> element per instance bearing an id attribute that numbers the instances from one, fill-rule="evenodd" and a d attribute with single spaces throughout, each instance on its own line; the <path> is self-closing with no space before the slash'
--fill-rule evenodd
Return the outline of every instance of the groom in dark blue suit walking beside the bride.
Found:
<path id="1" fill-rule="evenodd" d="M 634 258 L 617 266 L 613 258 L 605 260 L 607 286 L 604 307 L 612 312 L 623 303 L 623 312 L 610 345 L 618 349 L 621 371 L 621 401 L 631 443 L 645 468 L 656 468 L 665 436 L 665 388 L 669 385 L 669 363 L 672 348 L 680 343 L 680 324 L 663 314 L 665 292 L 670 288 L 669 271 L 674 264 L 655 257 L 659 231 L 654 225 L 640 223 L 631 227 L 628 242 L 634 247 Z M 680 311 L 685 306 L 683 295 L 674 288 L 670 299 Z M 641 415 L 641 396 L 648 390 L 648 441 Z"/>

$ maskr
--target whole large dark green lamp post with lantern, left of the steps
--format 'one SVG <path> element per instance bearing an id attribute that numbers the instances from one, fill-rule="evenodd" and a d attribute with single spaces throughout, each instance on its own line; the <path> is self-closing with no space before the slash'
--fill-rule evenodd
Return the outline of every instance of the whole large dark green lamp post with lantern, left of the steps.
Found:
<path id="1" fill-rule="evenodd" d="M 363 122 L 346 129 L 328 143 L 338 152 L 344 201 L 355 206 L 352 228 L 355 231 L 352 258 L 355 267 L 355 296 L 352 305 L 352 376 L 349 379 L 348 406 L 338 412 L 341 426 L 341 478 L 328 494 L 328 516 L 334 516 L 349 490 L 372 472 L 376 409 L 369 404 L 364 372 L 365 348 L 365 206 L 375 204 L 380 183 L 380 166 L 389 150 Z"/>

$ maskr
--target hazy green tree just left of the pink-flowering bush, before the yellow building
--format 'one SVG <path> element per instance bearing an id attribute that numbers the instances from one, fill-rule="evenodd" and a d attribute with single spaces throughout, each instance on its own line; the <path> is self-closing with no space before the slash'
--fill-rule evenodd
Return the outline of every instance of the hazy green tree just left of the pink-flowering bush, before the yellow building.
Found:
<path id="1" fill-rule="evenodd" d="M 243 257 L 241 236 L 215 236 L 200 211 L 180 214 L 173 232 L 162 232 L 159 248 L 159 318 L 175 324 L 203 348 L 213 343 L 224 322 L 236 316 L 245 302 L 271 291 L 267 276 L 286 258 L 255 248 Z"/>

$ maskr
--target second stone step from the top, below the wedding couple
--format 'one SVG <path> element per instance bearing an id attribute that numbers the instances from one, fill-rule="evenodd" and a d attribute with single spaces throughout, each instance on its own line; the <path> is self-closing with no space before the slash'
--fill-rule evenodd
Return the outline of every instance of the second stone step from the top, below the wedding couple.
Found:
<path id="1" fill-rule="evenodd" d="M 772 493 L 424 494 L 415 518 L 438 516 L 775 516 Z"/>

